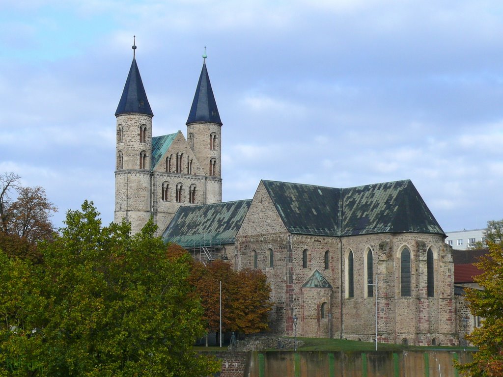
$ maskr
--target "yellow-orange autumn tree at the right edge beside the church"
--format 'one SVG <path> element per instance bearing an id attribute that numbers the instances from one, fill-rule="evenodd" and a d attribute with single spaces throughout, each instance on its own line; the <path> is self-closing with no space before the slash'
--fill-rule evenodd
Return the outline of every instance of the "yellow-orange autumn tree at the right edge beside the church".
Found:
<path id="1" fill-rule="evenodd" d="M 461 371 L 474 377 L 503 375 L 503 244 L 490 239 L 486 242 L 488 254 L 475 263 L 483 272 L 473 278 L 483 290 L 465 289 L 471 313 L 484 318 L 483 326 L 466 337 L 479 350 L 473 362 L 458 364 Z"/>

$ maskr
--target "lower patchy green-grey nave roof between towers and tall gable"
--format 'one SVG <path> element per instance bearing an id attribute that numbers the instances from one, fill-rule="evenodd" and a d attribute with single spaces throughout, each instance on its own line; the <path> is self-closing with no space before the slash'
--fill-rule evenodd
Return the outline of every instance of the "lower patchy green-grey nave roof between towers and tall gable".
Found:
<path id="1" fill-rule="evenodd" d="M 234 243 L 251 200 L 180 207 L 162 234 L 185 248 Z"/>

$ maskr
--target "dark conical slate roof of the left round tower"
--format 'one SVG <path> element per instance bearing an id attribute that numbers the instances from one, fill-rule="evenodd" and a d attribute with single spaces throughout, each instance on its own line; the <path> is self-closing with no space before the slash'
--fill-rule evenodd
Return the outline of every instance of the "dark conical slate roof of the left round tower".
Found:
<path id="1" fill-rule="evenodd" d="M 129 74 L 115 116 L 130 113 L 153 116 L 135 58 L 133 58 L 133 62 L 131 63 L 131 68 L 129 69 Z"/>

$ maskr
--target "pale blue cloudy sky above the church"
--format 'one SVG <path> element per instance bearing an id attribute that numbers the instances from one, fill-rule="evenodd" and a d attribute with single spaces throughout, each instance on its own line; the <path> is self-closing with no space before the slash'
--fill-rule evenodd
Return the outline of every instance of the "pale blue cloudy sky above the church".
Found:
<path id="1" fill-rule="evenodd" d="M 444 231 L 503 217 L 500 0 L 17 0 L 0 35 L 0 172 L 58 227 L 86 199 L 113 219 L 133 35 L 154 136 L 186 134 L 207 46 L 224 201 L 409 178 Z"/>

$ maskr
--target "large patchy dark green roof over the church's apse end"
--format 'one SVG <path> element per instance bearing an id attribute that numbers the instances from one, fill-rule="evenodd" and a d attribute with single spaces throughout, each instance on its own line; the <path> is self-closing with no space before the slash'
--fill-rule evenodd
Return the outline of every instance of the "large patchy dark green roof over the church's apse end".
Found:
<path id="1" fill-rule="evenodd" d="M 290 233 L 444 234 L 408 179 L 349 189 L 268 180 L 263 183 Z"/>

